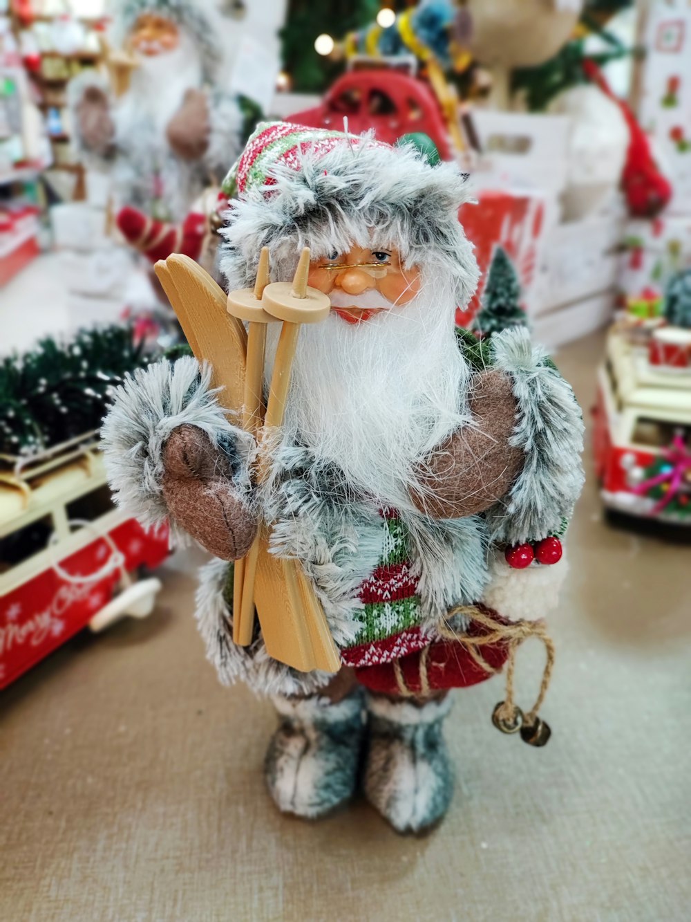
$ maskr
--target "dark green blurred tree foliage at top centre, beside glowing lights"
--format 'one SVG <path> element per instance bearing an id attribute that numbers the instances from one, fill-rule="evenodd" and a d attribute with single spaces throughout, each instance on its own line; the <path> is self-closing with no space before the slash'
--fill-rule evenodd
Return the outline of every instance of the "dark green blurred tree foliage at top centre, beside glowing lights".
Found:
<path id="1" fill-rule="evenodd" d="M 283 69 L 290 89 L 297 93 L 322 93 L 344 69 L 314 50 L 319 35 L 337 41 L 346 32 L 372 22 L 380 11 L 379 0 L 290 0 L 286 25 L 280 31 Z"/>

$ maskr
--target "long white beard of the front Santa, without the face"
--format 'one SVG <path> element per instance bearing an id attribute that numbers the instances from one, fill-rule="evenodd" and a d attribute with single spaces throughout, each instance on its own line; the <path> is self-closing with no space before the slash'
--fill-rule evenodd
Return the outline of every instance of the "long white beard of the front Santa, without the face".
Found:
<path id="1" fill-rule="evenodd" d="M 350 301 L 359 306 L 357 297 Z M 437 278 L 414 301 L 365 323 L 332 314 L 303 325 L 284 440 L 340 467 L 381 506 L 412 510 L 416 464 L 469 421 L 470 372 L 456 344 L 455 307 L 451 285 Z M 269 326 L 267 386 L 279 331 Z"/>

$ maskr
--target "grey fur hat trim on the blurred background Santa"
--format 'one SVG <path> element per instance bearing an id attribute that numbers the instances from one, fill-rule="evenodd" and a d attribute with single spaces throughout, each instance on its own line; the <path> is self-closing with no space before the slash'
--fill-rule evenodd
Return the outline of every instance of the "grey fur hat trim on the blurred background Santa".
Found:
<path id="1" fill-rule="evenodd" d="M 189 33 L 199 50 L 205 80 L 212 82 L 221 63 L 221 46 L 210 9 L 203 9 L 199 0 L 113 0 L 113 41 L 124 44 L 136 20 L 146 13 L 170 19 Z"/>

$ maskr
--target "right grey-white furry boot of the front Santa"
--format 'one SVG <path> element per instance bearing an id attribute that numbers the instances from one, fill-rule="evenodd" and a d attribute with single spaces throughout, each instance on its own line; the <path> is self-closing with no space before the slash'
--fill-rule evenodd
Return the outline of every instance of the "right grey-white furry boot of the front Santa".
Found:
<path id="1" fill-rule="evenodd" d="M 449 697 L 417 706 L 369 694 L 365 794 L 399 833 L 419 833 L 446 813 L 453 771 L 442 736 Z"/>

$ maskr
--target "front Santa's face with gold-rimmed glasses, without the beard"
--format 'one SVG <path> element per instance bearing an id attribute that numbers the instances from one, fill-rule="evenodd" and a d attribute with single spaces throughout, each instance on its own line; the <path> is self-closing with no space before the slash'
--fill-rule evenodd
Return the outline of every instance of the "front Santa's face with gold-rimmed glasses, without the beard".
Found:
<path id="1" fill-rule="evenodd" d="M 398 250 L 353 246 L 310 265 L 309 284 L 331 299 L 346 323 L 366 323 L 375 314 L 413 301 L 420 291 L 420 270 L 404 268 Z"/>

